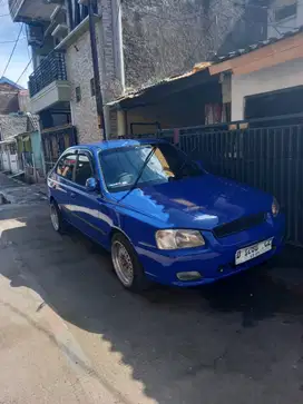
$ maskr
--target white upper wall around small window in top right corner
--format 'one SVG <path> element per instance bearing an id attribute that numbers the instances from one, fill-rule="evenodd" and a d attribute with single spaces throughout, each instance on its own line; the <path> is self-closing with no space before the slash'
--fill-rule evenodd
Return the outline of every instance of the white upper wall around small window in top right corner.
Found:
<path id="1" fill-rule="evenodd" d="M 293 3 L 294 0 L 275 0 L 271 3 L 268 9 L 268 38 L 276 38 L 280 36 L 280 33 L 285 33 L 287 31 L 291 31 L 300 26 L 303 26 L 303 2 L 302 0 L 297 0 L 297 9 L 296 9 L 296 16 L 285 18 L 282 21 L 275 22 L 275 16 L 274 10 Z"/>

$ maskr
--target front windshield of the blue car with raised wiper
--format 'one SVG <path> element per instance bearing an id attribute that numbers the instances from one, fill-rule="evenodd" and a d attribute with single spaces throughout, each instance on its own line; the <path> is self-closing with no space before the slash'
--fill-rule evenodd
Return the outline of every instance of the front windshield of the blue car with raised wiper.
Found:
<path id="1" fill-rule="evenodd" d="M 105 150 L 100 152 L 100 164 L 106 186 L 111 193 L 130 189 L 145 164 L 137 187 L 203 175 L 195 161 L 165 142 Z"/>

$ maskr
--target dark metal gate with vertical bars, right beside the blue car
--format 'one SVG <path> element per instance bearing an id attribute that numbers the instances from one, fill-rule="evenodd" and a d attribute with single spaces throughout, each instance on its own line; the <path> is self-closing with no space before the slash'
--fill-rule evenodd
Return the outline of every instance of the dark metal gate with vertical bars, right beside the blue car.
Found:
<path id="1" fill-rule="evenodd" d="M 180 128 L 157 136 L 201 159 L 208 171 L 274 195 L 286 215 L 287 240 L 303 246 L 303 124 Z"/>

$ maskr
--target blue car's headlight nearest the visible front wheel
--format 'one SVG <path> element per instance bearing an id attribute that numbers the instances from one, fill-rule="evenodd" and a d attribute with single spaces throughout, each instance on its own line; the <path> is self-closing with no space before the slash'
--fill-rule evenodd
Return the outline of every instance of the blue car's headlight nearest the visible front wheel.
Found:
<path id="1" fill-rule="evenodd" d="M 205 245 L 198 230 L 158 230 L 156 242 L 159 249 L 193 248 Z"/>

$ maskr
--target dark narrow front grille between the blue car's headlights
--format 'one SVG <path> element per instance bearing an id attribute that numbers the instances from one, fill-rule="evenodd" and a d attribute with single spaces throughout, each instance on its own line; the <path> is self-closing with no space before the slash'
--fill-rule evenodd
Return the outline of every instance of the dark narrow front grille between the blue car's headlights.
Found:
<path id="1" fill-rule="evenodd" d="M 237 220 L 215 227 L 213 231 L 217 238 L 226 237 L 232 234 L 246 230 L 247 228 L 261 225 L 263 221 L 265 221 L 265 217 L 266 214 L 264 213 L 244 216 Z"/>

